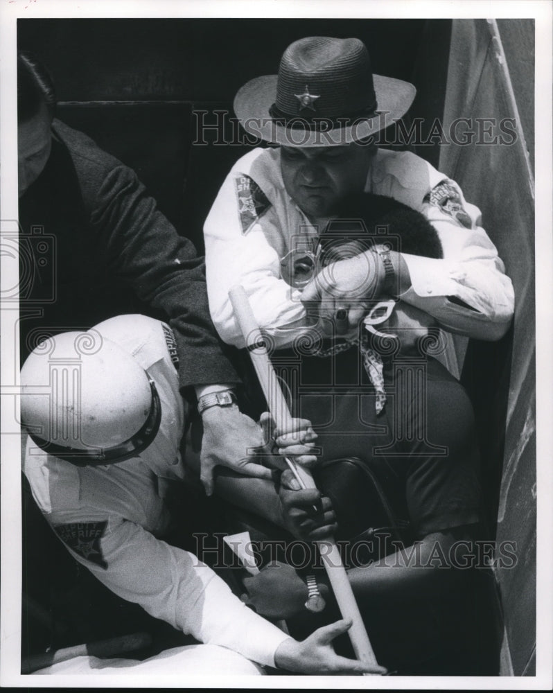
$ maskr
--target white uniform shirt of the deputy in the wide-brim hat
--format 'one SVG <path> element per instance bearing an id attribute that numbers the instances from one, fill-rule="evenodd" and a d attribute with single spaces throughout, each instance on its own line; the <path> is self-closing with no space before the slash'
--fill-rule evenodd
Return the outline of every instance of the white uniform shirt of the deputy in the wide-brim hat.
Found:
<path id="1" fill-rule="evenodd" d="M 420 211 L 438 231 L 443 259 L 403 254 L 412 287 L 401 298 L 450 331 L 483 340 L 504 334 L 514 309 L 511 280 L 480 226 L 480 210 L 457 184 L 411 152 L 378 150 L 365 191 Z M 254 149 L 236 162 L 204 225 L 209 308 L 225 342 L 245 345 L 228 298 L 236 284 L 275 347 L 306 332 L 301 290 L 281 278 L 280 260 L 298 235 L 317 234 L 284 188 L 279 148 Z"/>

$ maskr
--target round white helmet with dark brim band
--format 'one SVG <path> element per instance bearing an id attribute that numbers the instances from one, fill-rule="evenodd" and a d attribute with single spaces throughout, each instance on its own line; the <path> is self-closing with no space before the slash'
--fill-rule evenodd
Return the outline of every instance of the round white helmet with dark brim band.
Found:
<path id="1" fill-rule="evenodd" d="M 21 369 L 21 421 L 35 443 L 75 464 L 121 462 L 159 430 L 148 374 L 95 329 L 49 337 Z"/>

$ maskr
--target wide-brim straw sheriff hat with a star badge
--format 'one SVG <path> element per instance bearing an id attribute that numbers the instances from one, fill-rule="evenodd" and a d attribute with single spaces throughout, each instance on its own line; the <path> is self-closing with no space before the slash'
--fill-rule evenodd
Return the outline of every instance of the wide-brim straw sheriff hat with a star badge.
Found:
<path id="1" fill-rule="evenodd" d="M 359 39 L 312 36 L 288 46 L 278 75 L 247 82 L 234 111 L 246 132 L 274 144 L 339 145 L 387 128 L 415 94 L 409 82 L 374 75 Z"/>

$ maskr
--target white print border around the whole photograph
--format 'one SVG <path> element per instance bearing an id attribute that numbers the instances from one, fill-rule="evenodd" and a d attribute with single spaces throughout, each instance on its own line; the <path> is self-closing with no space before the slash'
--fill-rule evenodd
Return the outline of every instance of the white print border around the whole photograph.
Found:
<path id="1" fill-rule="evenodd" d="M 188 677 L 166 674 L 163 678 L 119 676 L 20 674 L 21 638 L 21 455 L 19 432 L 17 304 L 1 301 L 1 608 L 0 683 L 15 687 L 240 687 L 240 688 L 372 688 L 380 689 L 493 689 L 550 690 L 553 681 L 552 592 L 553 551 L 551 464 L 553 367 L 553 220 L 552 220 L 552 4 L 548 1 L 389 0 L 284 1 L 225 0 L 3 0 L 0 8 L 0 203 L 1 235 L 13 234 L 17 207 L 17 19 L 280 17 L 357 19 L 380 18 L 483 18 L 535 19 L 535 194 L 536 194 L 536 432 L 537 432 L 537 619 L 536 675 L 498 677 L 380 677 L 267 676 L 218 680 L 209 675 Z M 17 262 L 2 256 L 2 296 L 18 286 Z M 506 453 L 507 454 L 507 453 Z"/>

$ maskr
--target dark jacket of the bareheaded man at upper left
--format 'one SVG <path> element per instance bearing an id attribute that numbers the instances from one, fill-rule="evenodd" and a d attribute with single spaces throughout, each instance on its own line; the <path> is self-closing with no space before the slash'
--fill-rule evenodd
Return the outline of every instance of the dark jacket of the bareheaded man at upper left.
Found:
<path id="1" fill-rule="evenodd" d="M 21 358 L 49 331 L 148 312 L 173 328 L 181 388 L 236 383 L 193 244 L 134 171 L 58 120 L 52 131 L 46 167 L 19 201 Z"/>

